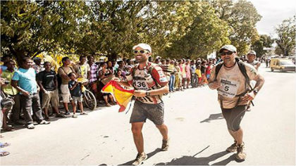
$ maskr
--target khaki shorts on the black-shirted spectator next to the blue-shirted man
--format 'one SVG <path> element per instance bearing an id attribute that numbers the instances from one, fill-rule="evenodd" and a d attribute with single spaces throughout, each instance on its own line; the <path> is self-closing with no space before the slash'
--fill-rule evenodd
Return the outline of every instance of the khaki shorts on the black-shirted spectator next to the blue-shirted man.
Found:
<path id="1" fill-rule="evenodd" d="M 49 102 L 51 106 L 58 107 L 58 89 L 47 92 L 48 94 L 42 92 L 42 108 L 49 108 Z"/>

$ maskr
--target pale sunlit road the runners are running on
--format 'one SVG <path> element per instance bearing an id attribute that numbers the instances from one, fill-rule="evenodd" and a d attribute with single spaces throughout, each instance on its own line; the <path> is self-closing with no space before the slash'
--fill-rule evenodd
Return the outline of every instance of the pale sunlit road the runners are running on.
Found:
<path id="1" fill-rule="evenodd" d="M 295 73 L 259 69 L 266 84 L 255 107 L 242 120 L 247 160 L 236 162 L 225 149 L 233 143 L 208 87 L 175 92 L 164 98 L 171 148 L 160 152 L 161 135 L 152 122 L 144 125 L 144 165 L 295 165 Z M 130 165 L 136 148 L 130 113 L 118 106 L 100 108 L 77 119 L 52 120 L 33 130 L 6 132 L 1 142 L 11 155 L 1 165 Z"/>

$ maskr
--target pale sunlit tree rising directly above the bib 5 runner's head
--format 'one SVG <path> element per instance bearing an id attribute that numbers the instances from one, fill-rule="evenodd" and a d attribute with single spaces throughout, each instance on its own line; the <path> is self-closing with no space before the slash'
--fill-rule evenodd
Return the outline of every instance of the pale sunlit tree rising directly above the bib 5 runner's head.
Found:
<path id="1" fill-rule="evenodd" d="M 259 39 L 256 23 L 261 15 L 254 5 L 246 0 L 212 0 L 210 3 L 218 17 L 228 23 L 231 44 L 237 47 L 239 54 L 247 53 L 249 46 Z"/>

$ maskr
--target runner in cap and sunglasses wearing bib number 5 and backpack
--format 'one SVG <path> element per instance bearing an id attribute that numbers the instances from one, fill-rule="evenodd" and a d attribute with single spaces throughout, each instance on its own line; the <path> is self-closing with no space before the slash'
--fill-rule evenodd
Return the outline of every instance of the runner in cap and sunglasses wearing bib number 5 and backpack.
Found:
<path id="1" fill-rule="evenodd" d="M 228 132 L 235 141 L 226 151 L 236 151 L 235 157 L 238 160 L 245 160 L 245 143 L 242 141 L 243 132 L 240 122 L 245 115 L 248 103 L 254 99 L 263 86 L 264 78 L 252 65 L 235 58 L 235 46 L 223 46 L 219 53 L 223 62 L 213 68 L 209 79 L 209 88 L 218 91 L 218 101 L 227 123 Z M 242 67 L 245 68 L 245 73 L 242 72 Z M 246 75 L 249 80 L 257 82 L 252 91 L 249 89 Z"/>

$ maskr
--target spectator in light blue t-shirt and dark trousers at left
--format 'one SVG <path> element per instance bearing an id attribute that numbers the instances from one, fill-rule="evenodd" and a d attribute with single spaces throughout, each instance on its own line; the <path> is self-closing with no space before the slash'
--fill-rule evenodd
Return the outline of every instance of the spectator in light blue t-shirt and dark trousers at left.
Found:
<path id="1" fill-rule="evenodd" d="M 38 85 L 36 82 L 36 72 L 32 67 L 32 60 L 24 57 L 19 68 L 13 75 L 11 85 L 20 92 L 20 103 L 23 108 L 25 121 L 28 129 L 34 129 L 33 119 L 30 115 L 31 109 L 41 125 L 47 125 L 50 122 L 43 120 L 42 110 L 38 94 Z"/>

